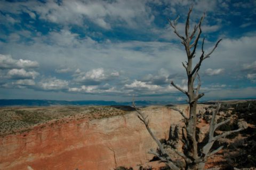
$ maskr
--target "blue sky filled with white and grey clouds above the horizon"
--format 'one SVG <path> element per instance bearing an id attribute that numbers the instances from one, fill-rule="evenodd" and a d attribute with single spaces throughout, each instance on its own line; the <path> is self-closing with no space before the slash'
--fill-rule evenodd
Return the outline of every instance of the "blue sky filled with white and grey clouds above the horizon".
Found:
<path id="1" fill-rule="evenodd" d="M 184 35 L 191 6 L 205 51 L 222 38 L 199 71 L 202 100 L 256 98 L 256 1 L 30 0 L 0 2 L 0 99 L 185 101 L 167 19 Z"/>

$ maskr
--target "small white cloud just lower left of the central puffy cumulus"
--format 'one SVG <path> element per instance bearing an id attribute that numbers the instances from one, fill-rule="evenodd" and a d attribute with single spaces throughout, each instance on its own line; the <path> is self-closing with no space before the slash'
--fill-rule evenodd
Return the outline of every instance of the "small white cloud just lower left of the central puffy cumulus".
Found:
<path id="1" fill-rule="evenodd" d="M 41 80 L 41 82 L 38 83 L 38 87 L 41 90 L 45 91 L 55 91 L 55 90 L 67 90 L 68 89 L 68 81 L 57 79 L 55 77 L 53 78 L 46 78 Z"/>

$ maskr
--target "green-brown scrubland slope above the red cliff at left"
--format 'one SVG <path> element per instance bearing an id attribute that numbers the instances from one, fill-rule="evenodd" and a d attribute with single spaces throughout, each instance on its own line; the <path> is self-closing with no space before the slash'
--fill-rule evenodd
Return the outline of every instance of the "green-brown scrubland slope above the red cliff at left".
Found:
<path id="1" fill-rule="evenodd" d="M 121 107 L 3 107 L 0 108 L 0 136 L 29 131 L 36 125 L 68 123 L 70 120 L 101 119 L 124 115 Z"/>

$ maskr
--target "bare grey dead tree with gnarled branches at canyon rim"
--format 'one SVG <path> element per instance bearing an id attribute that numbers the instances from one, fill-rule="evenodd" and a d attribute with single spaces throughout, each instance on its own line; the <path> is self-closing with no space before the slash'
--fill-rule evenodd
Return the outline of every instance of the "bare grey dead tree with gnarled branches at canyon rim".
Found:
<path id="1" fill-rule="evenodd" d="M 181 43 L 185 47 L 186 54 L 187 54 L 187 62 L 183 63 L 182 66 L 185 68 L 187 73 L 187 90 L 183 90 L 178 85 L 175 85 L 173 82 L 171 82 L 171 85 L 173 85 L 177 90 L 184 93 L 188 97 L 188 104 L 189 104 L 189 115 L 188 117 L 186 114 L 179 110 L 178 108 L 173 108 L 174 110 L 177 110 L 183 117 L 183 120 L 185 122 L 185 129 L 186 129 L 186 136 L 184 137 L 183 141 L 186 147 L 183 147 L 182 152 L 175 150 L 175 148 L 172 148 L 175 153 L 177 153 L 181 159 L 183 159 L 186 163 L 185 167 L 179 167 L 179 165 L 176 163 L 176 160 L 174 160 L 170 154 L 170 152 L 166 148 L 170 148 L 170 146 L 166 146 L 168 144 L 161 143 L 157 137 L 154 135 L 154 133 L 151 131 L 149 127 L 149 120 L 147 117 L 145 117 L 141 110 L 135 107 L 135 104 L 133 103 L 133 107 L 136 109 L 138 113 L 139 119 L 142 121 L 143 124 L 145 124 L 149 134 L 154 139 L 154 141 L 158 145 L 158 152 L 154 150 L 150 150 L 149 153 L 154 154 L 156 157 L 158 157 L 161 161 L 165 162 L 167 166 L 169 166 L 171 169 L 178 170 L 178 169 L 204 169 L 205 162 L 207 161 L 207 158 L 214 155 L 218 151 L 222 149 L 222 147 L 219 147 L 216 150 L 212 150 L 212 145 L 215 141 L 220 139 L 221 137 L 225 137 L 231 133 L 242 131 L 244 128 L 247 127 L 246 122 L 240 122 L 239 128 L 234 131 L 228 131 L 223 132 L 220 135 L 214 136 L 214 131 L 220 127 L 223 124 L 226 124 L 230 121 L 230 119 L 227 119 L 221 123 L 217 124 L 217 121 L 215 120 L 215 116 L 217 112 L 220 109 L 220 104 L 217 105 L 217 109 L 213 111 L 210 128 L 209 128 L 209 140 L 202 148 L 198 148 L 198 141 L 196 139 L 196 123 L 197 123 L 197 102 L 202 96 L 204 96 L 204 93 L 200 93 L 200 87 L 201 87 L 201 80 L 198 74 L 198 71 L 201 67 L 202 62 L 210 58 L 210 55 L 213 53 L 213 51 L 217 48 L 218 44 L 221 42 L 221 39 L 217 41 L 217 43 L 214 45 L 214 47 L 210 50 L 210 52 L 206 53 L 204 51 L 204 38 L 201 45 L 201 55 L 199 56 L 199 61 L 196 63 L 196 65 L 193 67 L 192 61 L 195 59 L 196 56 L 196 48 L 198 46 L 199 38 L 201 37 L 202 30 L 201 25 L 204 19 L 205 14 L 201 17 L 199 22 L 193 27 L 191 30 L 191 33 L 189 32 L 189 20 L 190 20 L 190 13 L 192 9 L 189 9 L 187 20 L 186 20 L 186 27 L 185 27 L 185 36 L 182 36 L 177 28 L 177 19 L 174 21 L 171 21 L 169 19 L 169 23 L 171 27 L 174 30 L 174 33 L 181 39 Z M 197 79 L 197 81 L 196 81 Z M 197 82 L 195 86 L 195 82 Z"/>

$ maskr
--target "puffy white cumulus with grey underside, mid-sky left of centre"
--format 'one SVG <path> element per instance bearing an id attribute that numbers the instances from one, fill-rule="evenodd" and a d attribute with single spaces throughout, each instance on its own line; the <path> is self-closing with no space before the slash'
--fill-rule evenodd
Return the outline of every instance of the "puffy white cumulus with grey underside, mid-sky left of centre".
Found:
<path id="1" fill-rule="evenodd" d="M 75 74 L 75 82 L 83 83 L 87 85 L 98 85 L 101 84 L 103 81 L 108 81 L 119 77 L 119 72 L 107 72 L 103 68 L 92 69 L 87 72 L 79 72 Z"/>

